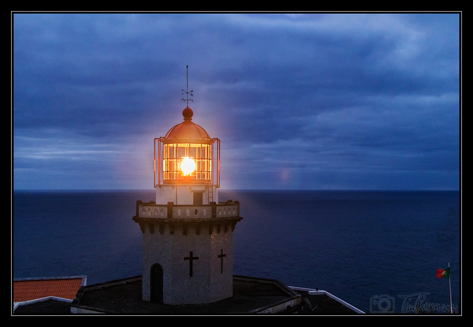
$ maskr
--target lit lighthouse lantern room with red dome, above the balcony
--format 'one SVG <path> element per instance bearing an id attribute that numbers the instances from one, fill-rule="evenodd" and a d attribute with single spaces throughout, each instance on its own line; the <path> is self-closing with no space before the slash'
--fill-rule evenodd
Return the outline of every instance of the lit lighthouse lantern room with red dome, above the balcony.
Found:
<path id="1" fill-rule="evenodd" d="M 192 122 L 191 108 L 186 107 L 182 114 L 182 123 L 169 129 L 166 136 L 154 139 L 156 203 L 218 202 L 220 140 L 210 138 L 205 129 Z"/>

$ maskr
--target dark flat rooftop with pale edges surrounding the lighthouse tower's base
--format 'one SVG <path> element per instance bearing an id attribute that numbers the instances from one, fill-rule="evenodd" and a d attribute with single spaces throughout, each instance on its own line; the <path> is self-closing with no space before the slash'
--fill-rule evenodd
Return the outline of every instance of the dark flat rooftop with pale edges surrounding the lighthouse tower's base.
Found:
<path id="1" fill-rule="evenodd" d="M 307 310 L 304 298 L 313 310 Z M 306 303 L 307 303 L 306 300 Z M 277 280 L 233 277 L 233 296 L 209 304 L 167 305 L 141 300 L 141 276 L 82 286 L 72 303 L 48 300 L 18 307 L 15 315 L 105 313 L 114 315 L 357 314 L 325 294 L 309 295 Z M 305 307 L 305 308 L 303 308 Z"/>

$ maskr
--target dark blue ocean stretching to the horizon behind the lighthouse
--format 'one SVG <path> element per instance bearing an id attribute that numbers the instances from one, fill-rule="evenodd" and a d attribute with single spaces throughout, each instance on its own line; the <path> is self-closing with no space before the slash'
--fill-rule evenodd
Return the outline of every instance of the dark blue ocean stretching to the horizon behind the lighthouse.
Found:
<path id="1" fill-rule="evenodd" d="M 13 278 L 140 275 L 131 217 L 136 200 L 155 198 L 155 190 L 13 191 Z M 450 263 L 461 311 L 458 191 L 220 190 L 227 199 L 244 218 L 233 232 L 234 275 L 319 288 L 367 313 L 420 305 L 443 314 L 449 281 L 435 272 Z"/>

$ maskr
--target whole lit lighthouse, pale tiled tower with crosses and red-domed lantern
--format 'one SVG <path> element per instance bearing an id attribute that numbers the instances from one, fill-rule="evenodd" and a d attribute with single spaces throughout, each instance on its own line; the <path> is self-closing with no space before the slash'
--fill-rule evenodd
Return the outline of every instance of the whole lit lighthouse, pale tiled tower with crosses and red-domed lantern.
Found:
<path id="1" fill-rule="evenodd" d="M 192 91 L 191 91 L 192 92 Z M 211 303 L 233 295 L 233 237 L 238 201 L 219 202 L 220 140 L 192 122 L 155 138 L 156 202 L 136 203 L 143 232 L 142 299 Z"/>

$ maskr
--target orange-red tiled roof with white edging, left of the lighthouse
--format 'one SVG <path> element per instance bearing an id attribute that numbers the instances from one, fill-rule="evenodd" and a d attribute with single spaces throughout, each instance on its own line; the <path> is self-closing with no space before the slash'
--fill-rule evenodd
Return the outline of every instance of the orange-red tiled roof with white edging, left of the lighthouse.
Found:
<path id="1" fill-rule="evenodd" d="M 13 281 L 13 301 L 29 301 L 46 296 L 73 300 L 81 283 L 82 278 Z"/>

